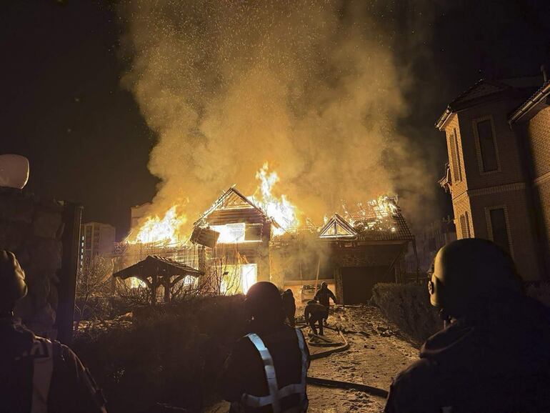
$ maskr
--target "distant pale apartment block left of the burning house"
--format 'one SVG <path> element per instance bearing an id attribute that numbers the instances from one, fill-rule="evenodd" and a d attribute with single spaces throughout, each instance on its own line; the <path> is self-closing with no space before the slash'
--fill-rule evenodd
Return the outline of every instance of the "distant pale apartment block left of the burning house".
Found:
<path id="1" fill-rule="evenodd" d="M 110 255 L 114 249 L 115 227 L 101 222 L 86 222 L 80 226 L 80 269 L 89 267 L 99 256 Z"/>

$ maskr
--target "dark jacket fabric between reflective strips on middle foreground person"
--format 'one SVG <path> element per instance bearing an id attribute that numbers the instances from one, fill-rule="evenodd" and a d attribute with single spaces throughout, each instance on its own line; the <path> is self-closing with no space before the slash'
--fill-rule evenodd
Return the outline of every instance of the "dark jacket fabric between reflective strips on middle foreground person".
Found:
<path id="1" fill-rule="evenodd" d="M 296 337 L 296 330 L 286 324 L 266 328 L 251 323 L 251 332 L 259 335 L 266 345 L 275 366 L 279 389 L 287 384 L 301 382 L 301 352 Z M 309 352 L 307 346 L 306 352 Z M 265 396 L 269 394 L 264 370 L 264 362 L 248 337 L 241 337 L 236 342 L 231 354 L 226 359 L 221 376 L 221 391 L 228 402 L 238 402 L 242 394 Z M 299 404 L 299 395 L 291 394 L 281 400 L 281 411 Z M 234 412 L 231 409 L 230 412 Z M 271 406 L 251 409 L 246 412 L 271 412 Z"/>

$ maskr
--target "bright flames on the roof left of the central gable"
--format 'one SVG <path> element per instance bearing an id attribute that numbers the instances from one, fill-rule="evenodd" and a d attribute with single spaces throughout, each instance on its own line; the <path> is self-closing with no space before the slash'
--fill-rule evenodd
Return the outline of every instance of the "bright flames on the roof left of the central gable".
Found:
<path id="1" fill-rule="evenodd" d="M 135 234 L 130 233 L 126 241 L 129 244 L 176 244 L 184 241 L 179 231 L 186 222 L 185 215 L 178 214 L 177 206 L 174 205 L 162 218 L 158 215 L 147 218 Z"/>

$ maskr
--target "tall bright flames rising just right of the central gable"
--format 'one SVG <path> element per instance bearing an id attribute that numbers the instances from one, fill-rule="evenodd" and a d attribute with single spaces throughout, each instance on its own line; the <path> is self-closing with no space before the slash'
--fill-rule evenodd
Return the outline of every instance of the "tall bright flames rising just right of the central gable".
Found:
<path id="1" fill-rule="evenodd" d="M 273 218 L 281 228 L 273 228 L 273 234 L 284 234 L 286 229 L 296 228 L 300 222 L 297 217 L 298 209 L 291 204 L 285 195 L 277 198 L 272 194 L 273 186 L 279 182 L 279 175 L 275 171 L 268 172 L 269 164 L 266 162 L 261 169 L 256 172 L 256 179 L 260 181 L 256 193 L 248 198 L 266 214 Z M 259 193 L 259 196 L 256 194 Z"/>

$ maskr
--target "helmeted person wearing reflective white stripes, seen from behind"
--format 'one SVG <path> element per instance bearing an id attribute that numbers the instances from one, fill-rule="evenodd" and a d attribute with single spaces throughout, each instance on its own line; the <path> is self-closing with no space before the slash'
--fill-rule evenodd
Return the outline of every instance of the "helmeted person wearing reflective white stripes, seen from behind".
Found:
<path id="1" fill-rule="evenodd" d="M 245 306 L 250 334 L 236 342 L 221 377 L 229 412 L 306 412 L 309 351 L 300 329 L 284 324 L 279 289 L 257 282 Z"/>

